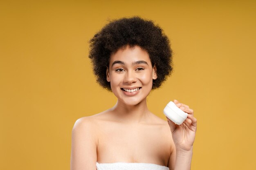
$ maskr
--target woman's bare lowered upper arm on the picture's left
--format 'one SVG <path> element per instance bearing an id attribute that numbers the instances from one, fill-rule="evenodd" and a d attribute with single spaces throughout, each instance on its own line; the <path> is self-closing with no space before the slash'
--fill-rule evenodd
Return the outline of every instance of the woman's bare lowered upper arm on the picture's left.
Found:
<path id="1" fill-rule="evenodd" d="M 97 134 L 89 117 L 76 120 L 72 129 L 71 170 L 96 170 Z"/>

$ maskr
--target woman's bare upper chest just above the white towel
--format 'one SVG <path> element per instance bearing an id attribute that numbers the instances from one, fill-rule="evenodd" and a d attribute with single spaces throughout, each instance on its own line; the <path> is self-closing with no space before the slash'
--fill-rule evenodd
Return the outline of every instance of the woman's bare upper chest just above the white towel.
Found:
<path id="1" fill-rule="evenodd" d="M 99 133 L 100 162 L 167 164 L 171 154 L 170 131 L 161 126 L 110 126 Z"/>

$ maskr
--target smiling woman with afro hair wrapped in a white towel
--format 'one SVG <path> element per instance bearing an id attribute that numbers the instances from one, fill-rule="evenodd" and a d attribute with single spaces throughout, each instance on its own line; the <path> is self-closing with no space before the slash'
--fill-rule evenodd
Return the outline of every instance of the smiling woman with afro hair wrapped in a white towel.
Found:
<path id="1" fill-rule="evenodd" d="M 117 97 L 102 113 L 82 117 L 72 130 L 71 170 L 189 170 L 196 119 L 176 125 L 148 110 L 146 97 L 172 71 L 172 51 L 162 29 L 139 17 L 121 18 L 90 40 L 97 82 Z"/>

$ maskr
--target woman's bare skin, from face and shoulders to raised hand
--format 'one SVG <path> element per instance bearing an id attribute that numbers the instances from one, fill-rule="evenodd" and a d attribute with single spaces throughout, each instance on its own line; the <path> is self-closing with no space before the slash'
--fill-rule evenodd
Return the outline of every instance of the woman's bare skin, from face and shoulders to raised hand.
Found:
<path id="1" fill-rule="evenodd" d="M 139 61 L 139 62 L 138 62 Z M 189 106 L 174 100 L 189 114 L 181 125 L 148 110 L 146 97 L 157 79 L 149 55 L 139 46 L 110 56 L 106 79 L 117 97 L 114 107 L 76 121 L 72 130 L 71 170 L 96 170 L 98 163 L 155 163 L 170 170 L 189 170 L 196 119 Z M 140 88 L 128 93 L 122 88 Z"/>

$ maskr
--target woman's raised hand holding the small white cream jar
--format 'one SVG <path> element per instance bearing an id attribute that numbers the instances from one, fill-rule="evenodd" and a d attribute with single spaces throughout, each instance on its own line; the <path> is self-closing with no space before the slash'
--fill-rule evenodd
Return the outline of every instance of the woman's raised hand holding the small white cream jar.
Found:
<path id="1" fill-rule="evenodd" d="M 193 149 L 197 120 L 194 117 L 193 110 L 189 108 L 189 106 L 182 104 L 177 100 L 174 100 L 173 102 L 178 108 L 188 113 L 188 117 L 181 125 L 175 124 L 173 121 L 168 119 L 168 117 L 166 117 L 171 129 L 175 147 L 176 149 L 190 151 Z"/>

